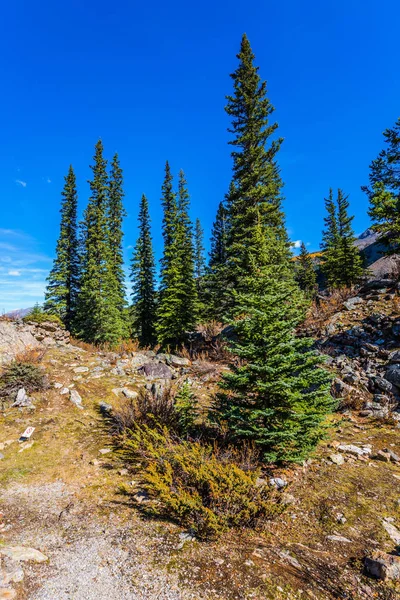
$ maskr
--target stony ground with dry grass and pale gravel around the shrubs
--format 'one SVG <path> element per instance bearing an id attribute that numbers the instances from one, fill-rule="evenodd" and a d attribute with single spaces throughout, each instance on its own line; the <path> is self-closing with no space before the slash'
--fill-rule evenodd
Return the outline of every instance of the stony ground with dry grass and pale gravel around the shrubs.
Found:
<path id="1" fill-rule="evenodd" d="M 51 348 L 43 364 L 52 388 L 34 397 L 35 409 L 0 413 L 0 599 L 400 597 L 396 583 L 371 579 L 363 567 L 374 550 L 400 544 L 400 466 L 379 453 L 400 454 L 395 421 L 335 415 L 310 461 L 273 473 L 288 482 L 279 519 L 218 542 L 188 541 L 174 524 L 144 520 L 121 493 L 132 476 L 110 451 L 98 407 L 123 402 L 118 390 L 135 392 L 148 381 L 132 367 L 135 356 L 121 362 Z M 206 400 L 212 366 L 199 364 L 188 376 Z M 82 409 L 64 388 L 79 393 Z M 31 440 L 18 443 L 28 425 Z M 4 554 L 16 546 L 46 560 Z"/>

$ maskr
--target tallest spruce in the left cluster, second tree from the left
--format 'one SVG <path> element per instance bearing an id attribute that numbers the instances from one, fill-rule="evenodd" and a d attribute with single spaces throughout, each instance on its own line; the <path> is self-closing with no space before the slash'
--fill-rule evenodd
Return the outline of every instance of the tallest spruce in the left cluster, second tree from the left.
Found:
<path id="1" fill-rule="evenodd" d="M 88 342 L 115 344 L 127 335 L 109 240 L 107 161 L 95 146 L 91 196 L 82 223 L 82 274 L 76 328 Z"/>

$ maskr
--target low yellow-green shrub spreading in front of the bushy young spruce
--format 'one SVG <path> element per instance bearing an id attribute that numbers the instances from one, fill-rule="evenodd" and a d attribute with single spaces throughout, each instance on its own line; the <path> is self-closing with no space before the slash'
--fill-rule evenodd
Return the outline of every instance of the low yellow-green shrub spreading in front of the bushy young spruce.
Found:
<path id="1" fill-rule="evenodd" d="M 210 446 L 176 442 L 166 428 L 135 424 L 122 456 L 149 496 L 140 508 L 190 528 L 200 539 L 229 527 L 254 527 L 280 512 L 273 492 L 258 485 L 258 470 L 245 472 Z"/>

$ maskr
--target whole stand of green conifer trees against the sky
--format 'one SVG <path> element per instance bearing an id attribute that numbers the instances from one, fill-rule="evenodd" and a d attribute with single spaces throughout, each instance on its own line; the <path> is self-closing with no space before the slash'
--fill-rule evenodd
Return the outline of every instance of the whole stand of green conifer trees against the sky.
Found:
<path id="1" fill-rule="evenodd" d="M 304 243 L 299 257 L 293 257 L 279 168 L 283 140 L 246 35 L 237 59 L 225 107 L 232 179 L 217 209 L 208 263 L 202 225 L 190 218 L 185 174 L 174 174 L 167 161 L 160 268 L 152 247 L 151 204 L 143 194 L 129 273 L 132 288 L 125 288 L 123 172 L 118 155 L 109 163 L 99 140 L 80 223 L 72 166 L 65 177 L 44 310 L 57 315 L 75 337 L 109 346 L 135 338 L 143 347 L 172 349 L 185 345 L 200 324 L 230 323 L 235 330 L 230 349 L 238 360 L 222 378 L 215 422 L 228 424 L 231 439 L 258 444 L 268 460 L 299 460 L 321 437 L 334 401 L 321 357 L 312 340 L 296 337 L 296 328 L 318 286 L 351 288 L 364 268 L 342 189 L 336 195 L 331 189 L 325 200 L 318 268 Z M 393 167 L 399 127 L 400 121 L 385 133 L 389 150 L 372 163 L 372 187 L 366 188 L 373 227 L 393 251 L 399 245 L 399 177 Z"/>

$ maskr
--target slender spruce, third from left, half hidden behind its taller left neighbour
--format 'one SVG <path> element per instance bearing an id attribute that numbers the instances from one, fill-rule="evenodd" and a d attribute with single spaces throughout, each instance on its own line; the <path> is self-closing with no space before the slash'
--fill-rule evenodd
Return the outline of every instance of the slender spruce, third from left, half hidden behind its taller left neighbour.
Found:
<path id="1" fill-rule="evenodd" d="M 126 217 L 126 211 L 123 204 L 125 195 L 123 181 L 123 174 L 118 154 L 115 154 L 111 161 L 111 170 L 108 182 L 108 229 L 111 259 L 114 274 L 118 281 L 117 293 L 120 297 L 119 302 L 121 310 L 123 310 L 126 306 L 124 257 L 122 247 L 122 222 L 124 217 Z"/>

